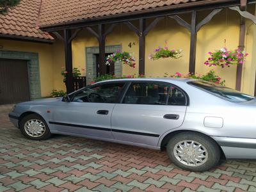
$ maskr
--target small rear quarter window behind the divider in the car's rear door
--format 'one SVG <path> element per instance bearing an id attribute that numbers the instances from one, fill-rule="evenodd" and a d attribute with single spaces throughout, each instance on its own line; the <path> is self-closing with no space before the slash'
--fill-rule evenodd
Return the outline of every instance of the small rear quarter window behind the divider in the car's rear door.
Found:
<path id="1" fill-rule="evenodd" d="M 186 106 L 186 95 L 175 86 L 170 86 L 168 95 L 168 105 L 170 106 Z"/>

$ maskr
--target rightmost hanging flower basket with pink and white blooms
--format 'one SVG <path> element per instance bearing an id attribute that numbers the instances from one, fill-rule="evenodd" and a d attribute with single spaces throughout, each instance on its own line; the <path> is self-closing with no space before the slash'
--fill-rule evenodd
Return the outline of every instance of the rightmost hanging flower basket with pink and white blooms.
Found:
<path id="1" fill-rule="evenodd" d="M 220 66 L 222 68 L 230 67 L 230 65 L 237 65 L 237 63 L 243 64 L 246 56 L 248 56 L 248 53 L 245 53 L 240 49 L 228 51 L 226 47 L 223 47 L 214 52 L 208 52 L 208 54 L 210 57 L 207 61 L 205 61 L 204 64 L 208 65 L 209 67 Z"/>

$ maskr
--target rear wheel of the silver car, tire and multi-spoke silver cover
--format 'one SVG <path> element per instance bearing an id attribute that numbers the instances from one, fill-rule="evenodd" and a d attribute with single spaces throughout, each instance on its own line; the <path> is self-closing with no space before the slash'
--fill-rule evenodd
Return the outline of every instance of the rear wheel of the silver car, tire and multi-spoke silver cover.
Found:
<path id="1" fill-rule="evenodd" d="M 170 160 L 192 172 L 207 171 L 220 161 L 220 147 L 214 140 L 197 132 L 181 132 L 166 146 Z"/>

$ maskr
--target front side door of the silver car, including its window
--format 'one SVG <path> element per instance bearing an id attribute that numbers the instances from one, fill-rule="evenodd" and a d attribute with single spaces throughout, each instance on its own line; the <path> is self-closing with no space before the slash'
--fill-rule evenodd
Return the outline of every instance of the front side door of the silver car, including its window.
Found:
<path id="1" fill-rule="evenodd" d="M 124 83 L 102 83 L 88 86 L 61 102 L 53 115 L 59 132 L 83 134 L 97 138 L 113 138 L 111 114 Z"/>

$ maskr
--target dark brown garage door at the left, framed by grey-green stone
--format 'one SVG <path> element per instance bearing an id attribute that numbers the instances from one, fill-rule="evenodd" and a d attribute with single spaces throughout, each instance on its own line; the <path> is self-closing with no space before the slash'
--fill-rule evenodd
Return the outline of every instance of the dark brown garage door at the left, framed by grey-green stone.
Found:
<path id="1" fill-rule="evenodd" d="M 29 100 L 28 61 L 0 59 L 0 104 Z"/>

